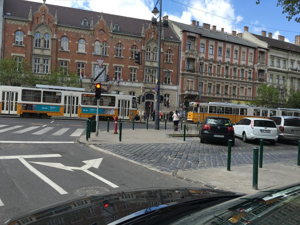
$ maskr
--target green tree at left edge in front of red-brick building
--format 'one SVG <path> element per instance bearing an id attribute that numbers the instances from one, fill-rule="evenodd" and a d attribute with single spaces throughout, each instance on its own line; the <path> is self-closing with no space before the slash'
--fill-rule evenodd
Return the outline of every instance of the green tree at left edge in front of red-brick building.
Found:
<path id="1" fill-rule="evenodd" d="M 9 86 L 35 86 L 38 77 L 32 73 L 31 64 L 26 58 L 17 61 L 17 58 L 5 57 L 0 62 L 0 82 Z"/>

